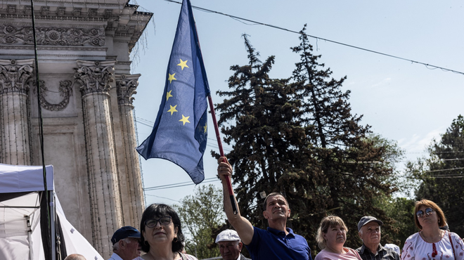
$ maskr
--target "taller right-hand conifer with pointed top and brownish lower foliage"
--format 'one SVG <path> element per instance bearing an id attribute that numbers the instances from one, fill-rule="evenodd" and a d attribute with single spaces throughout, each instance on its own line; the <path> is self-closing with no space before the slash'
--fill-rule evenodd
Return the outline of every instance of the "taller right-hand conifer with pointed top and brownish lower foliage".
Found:
<path id="1" fill-rule="evenodd" d="M 341 87 L 347 77 L 331 78 L 330 68 L 319 63 L 321 56 L 313 54 L 309 44 L 306 25 L 300 31 L 300 44 L 292 51 L 299 54 L 293 79 L 302 82 L 304 91 L 304 122 L 314 126 L 311 143 L 318 169 L 325 181 L 318 183 L 326 197 L 323 214 L 337 214 L 347 226 L 354 228 L 349 233 L 347 245 L 359 245 L 356 224 L 362 216 L 372 215 L 387 225 L 385 233 L 394 232 L 392 223 L 384 210 L 375 204 L 378 197 L 389 197 L 397 189 L 392 185 L 393 162 L 401 157 L 399 149 L 379 136 L 370 136 L 370 126 L 361 125 L 362 116 L 352 115 L 349 103 L 350 91 Z M 321 215 L 319 215 L 321 217 Z M 388 240 L 388 235 L 383 236 Z"/>

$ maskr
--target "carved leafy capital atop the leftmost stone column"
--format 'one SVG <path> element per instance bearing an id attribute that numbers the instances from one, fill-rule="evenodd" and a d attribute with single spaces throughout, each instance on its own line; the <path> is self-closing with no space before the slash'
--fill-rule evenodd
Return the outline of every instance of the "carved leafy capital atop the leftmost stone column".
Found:
<path id="1" fill-rule="evenodd" d="M 27 93 L 27 80 L 32 77 L 34 59 L 0 60 L 0 94 Z"/>

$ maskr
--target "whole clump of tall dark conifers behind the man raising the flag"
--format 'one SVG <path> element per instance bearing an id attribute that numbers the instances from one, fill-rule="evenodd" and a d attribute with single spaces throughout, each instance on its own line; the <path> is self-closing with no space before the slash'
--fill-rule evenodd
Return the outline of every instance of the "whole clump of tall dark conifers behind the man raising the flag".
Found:
<path id="1" fill-rule="evenodd" d="M 330 78 L 304 30 L 292 48 L 300 62 L 290 79 L 271 79 L 274 57 L 262 63 L 244 35 L 249 63 L 231 67 L 231 91 L 217 91 L 225 97 L 217 110 L 224 140 L 233 144 L 227 157 L 236 197 L 242 215 L 265 228 L 259 192 L 283 193 L 292 209 L 288 226 L 307 238 L 312 250 L 322 217 L 336 214 L 352 230 L 346 245 L 358 247 L 361 216 L 393 223 L 376 202 L 397 190 L 392 176 L 402 152 L 396 143 L 370 135 L 361 116 L 351 114 L 349 91 L 340 90 L 346 77 Z"/>

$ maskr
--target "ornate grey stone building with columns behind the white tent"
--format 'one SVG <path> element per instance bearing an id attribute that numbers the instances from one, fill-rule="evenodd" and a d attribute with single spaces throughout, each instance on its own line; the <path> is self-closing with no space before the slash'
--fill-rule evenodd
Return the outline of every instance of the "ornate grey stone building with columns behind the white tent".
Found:
<path id="1" fill-rule="evenodd" d="M 140 74 L 129 53 L 153 13 L 127 0 L 35 0 L 39 86 L 30 1 L 0 8 L 0 162 L 53 164 L 67 219 L 104 258 L 143 203 L 132 99 Z"/>

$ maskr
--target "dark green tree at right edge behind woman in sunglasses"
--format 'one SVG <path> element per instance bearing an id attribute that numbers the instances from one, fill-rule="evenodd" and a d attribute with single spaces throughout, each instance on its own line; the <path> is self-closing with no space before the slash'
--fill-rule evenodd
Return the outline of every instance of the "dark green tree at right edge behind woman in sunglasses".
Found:
<path id="1" fill-rule="evenodd" d="M 459 115 L 440 141 L 427 148 L 430 158 L 408 164 L 408 172 L 420 183 L 416 199 L 432 200 L 444 211 L 450 230 L 464 235 L 464 117 Z"/>

